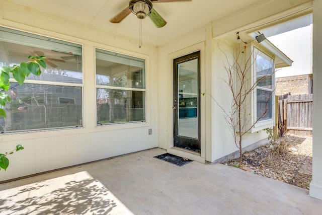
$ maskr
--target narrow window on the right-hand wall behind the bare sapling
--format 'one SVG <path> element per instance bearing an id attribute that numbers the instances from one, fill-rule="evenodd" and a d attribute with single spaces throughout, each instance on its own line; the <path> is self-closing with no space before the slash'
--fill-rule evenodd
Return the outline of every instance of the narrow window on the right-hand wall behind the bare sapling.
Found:
<path id="1" fill-rule="evenodd" d="M 274 60 L 262 52 L 256 55 L 256 119 L 272 119 Z"/>

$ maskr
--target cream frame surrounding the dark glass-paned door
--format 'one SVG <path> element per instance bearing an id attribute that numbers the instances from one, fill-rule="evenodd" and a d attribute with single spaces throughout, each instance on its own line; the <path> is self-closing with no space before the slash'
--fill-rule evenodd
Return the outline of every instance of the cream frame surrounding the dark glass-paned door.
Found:
<path id="1" fill-rule="evenodd" d="M 210 49 L 211 50 L 211 49 Z M 180 148 L 176 147 L 174 148 L 174 143 L 173 143 L 173 60 L 181 57 L 181 56 L 185 56 L 191 53 L 194 53 L 196 51 L 200 51 L 200 92 L 206 92 L 206 88 L 205 88 L 205 42 L 200 42 L 197 44 L 194 44 L 192 46 L 189 46 L 187 48 L 175 51 L 171 54 L 168 55 L 168 68 L 169 68 L 169 73 L 168 73 L 168 77 L 169 77 L 169 88 L 171 88 L 171 96 L 168 97 L 168 147 L 167 147 L 167 151 L 173 155 L 177 155 L 180 157 L 185 157 L 185 158 L 189 158 L 191 160 L 195 160 L 201 163 L 205 163 L 206 162 L 206 152 L 209 153 L 209 156 L 211 158 L 211 133 L 206 132 L 206 128 L 207 130 L 211 131 L 211 122 L 210 120 L 208 120 L 209 123 L 207 123 L 206 126 L 206 121 L 205 121 L 205 115 L 206 115 L 206 108 L 208 110 L 211 109 L 210 104 L 207 104 L 206 107 L 206 100 L 204 96 L 200 97 L 200 148 L 201 148 L 201 153 L 197 154 L 197 153 L 193 153 L 193 152 L 186 152 L 186 150 L 181 150 Z M 211 88 L 210 88 L 211 89 Z M 207 136 L 206 136 L 207 134 Z M 208 140 L 208 144 L 206 145 L 206 139 Z M 207 150 L 208 149 L 208 150 Z"/>

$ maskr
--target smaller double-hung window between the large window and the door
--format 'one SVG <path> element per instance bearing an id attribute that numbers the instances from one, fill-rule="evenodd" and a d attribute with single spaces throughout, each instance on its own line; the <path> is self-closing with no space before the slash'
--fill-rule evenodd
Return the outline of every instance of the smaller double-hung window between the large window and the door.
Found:
<path id="1" fill-rule="evenodd" d="M 145 121 L 145 59 L 96 50 L 97 124 Z"/>

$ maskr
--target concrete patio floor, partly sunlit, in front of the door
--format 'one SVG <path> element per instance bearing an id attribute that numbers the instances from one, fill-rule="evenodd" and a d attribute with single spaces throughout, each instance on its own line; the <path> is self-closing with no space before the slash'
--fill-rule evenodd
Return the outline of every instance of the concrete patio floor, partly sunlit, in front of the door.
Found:
<path id="1" fill-rule="evenodd" d="M 0 184 L 0 214 L 321 214 L 322 200 L 308 190 L 221 164 L 178 167 L 153 158 L 163 153 Z"/>

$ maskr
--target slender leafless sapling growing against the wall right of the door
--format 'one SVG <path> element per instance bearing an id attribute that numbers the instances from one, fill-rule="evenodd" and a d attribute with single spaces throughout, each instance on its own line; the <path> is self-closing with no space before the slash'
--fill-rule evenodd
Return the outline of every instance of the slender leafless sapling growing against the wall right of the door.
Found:
<path id="1" fill-rule="evenodd" d="M 249 110 L 248 108 L 250 108 L 249 104 L 253 99 L 252 95 L 257 91 L 257 88 L 262 81 L 265 81 L 267 77 L 273 77 L 274 72 L 270 70 L 272 68 L 269 68 L 267 73 L 262 77 L 258 77 L 257 74 L 253 76 L 252 68 L 254 67 L 254 63 L 256 63 L 256 58 L 258 56 L 258 52 L 255 53 L 255 49 L 253 49 L 249 53 L 248 57 L 244 59 L 245 62 L 243 62 L 243 57 L 246 56 L 246 46 L 244 47 L 244 51 L 238 51 L 236 54 L 227 51 L 233 58 L 233 62 L 231 62 L 226 52 L 220 48 L 219 44 L 218 48 L 224 54 L 226 60 L 226 63 L 224 63 L 224 68 L 226 70 L 227 79 L 224 80 L 224 82 L 227 84 L 232 96 L 230 109 L 226 110 L 223 108 L 210 94 L 203 93 L 203 95 L 207 94 L 211 96 L 211 98 L 223 111 L 226 123 L 231 129 L 234 143 L 239 149 L 240 167 L 241 163 L 243 162 L 243 136 L 251 131 L 252 128 L 254 128 L 254 126 L 263 119 L 269 109 L 271 109 L 270 101 L 275 89 L 267 91 L 270 93 L 267 96 L 267 101 L 265 101 L 265 110 L 261 112 L 261 115 L 257 116 L 256 120 L 253 122 L 251 117 L 255 116 L 251 116 L 251 114 L 248 114 L 247 112 Z M 265 65 L 262 65 L 262 67 L 266 68 Z"/>

